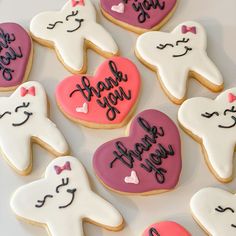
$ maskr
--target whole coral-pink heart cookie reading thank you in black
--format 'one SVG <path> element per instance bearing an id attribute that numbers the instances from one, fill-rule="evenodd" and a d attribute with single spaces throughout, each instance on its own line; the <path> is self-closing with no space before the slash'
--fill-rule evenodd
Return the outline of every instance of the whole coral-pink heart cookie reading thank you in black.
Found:
<path id="1" fill-rule="evenodd" d="M 96 75 L 74 75 L 56 89 L 62 112 L 92 128 L 114 128 L 126 124 L 138 101 L 141 87 L 137 67 L 128 59 L 106 60 Z"/>

